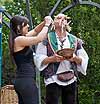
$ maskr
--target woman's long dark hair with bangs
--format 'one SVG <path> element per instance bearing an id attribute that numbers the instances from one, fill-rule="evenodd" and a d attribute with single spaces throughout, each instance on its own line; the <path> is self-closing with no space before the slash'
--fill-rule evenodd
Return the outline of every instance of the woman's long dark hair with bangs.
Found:
<path id="1" fill-rule="evenodd" d="M 10 35 L 9 35 L 9 48 L 10 53 L 14 53 L 14 39 L 22 35 L 22 28 L 28 24 L 28 19 L 24 16 L 14 16 L 10 20 Z"/>

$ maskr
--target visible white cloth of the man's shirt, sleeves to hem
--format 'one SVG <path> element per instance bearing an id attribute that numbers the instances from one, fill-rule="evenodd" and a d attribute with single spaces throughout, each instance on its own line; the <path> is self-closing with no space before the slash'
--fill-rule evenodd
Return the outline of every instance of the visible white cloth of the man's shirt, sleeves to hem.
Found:
<path id="1" fill-rule="evenodd" d="M 59 39 L 57 39 L 58 43 L 59 43 Z M 68 46 L 66 46 L 68 44 Z M 69 45 L 69 40 L 68 38 L 66 38 L 66 41 L 64 42 L 64 48 L 70 48 Z M 59 47 L 59 44 L 58 44 Z M 77 55 L 82 58 L 82 64 L 81 65 L 77 65 L 77 70 L 79 72 L 81 72 L 82 74 L 86 75 L 86 70 L 87 70 L 87 64 L 88 64 L 88 55 L 85 52 L 84 48 L 82 47 L 81 49 L 79 49 L 77 51 Z M 37 50 L 36 50 L 36 55 L 34 57 L 34 61 L 35 61 L 35 65 L 37 66 L 37 68 L 42 71 L 43 69 L 45 69 L 48 65 L 43 65 L 42 61 L 48 57 L 47 56 L 47 49 L 46 46 L 44 46 L 42 43 L 39 43 L 37 46 Z M 64 60 L 63 62 L 60 63 L 57 73 L 60 72 L 65 72 L 66 70 L 70 70 L 72 71 L 72 69 L 70 69 L 71 65 L 70 62 L 67 60 Z M 76 80 L 76 77 L 74 77 L 72 80 L 67 81 L 67 82 L 61 82 L 57 79 L 57 75 L 52 76 L 51 78 L 48 78 L 45 80 L 45 85 L 48 85 L 50 83 L 54 83 L 56 82 L 59 85 L 69 85 L 71 83 L 73 83 Z"/>

